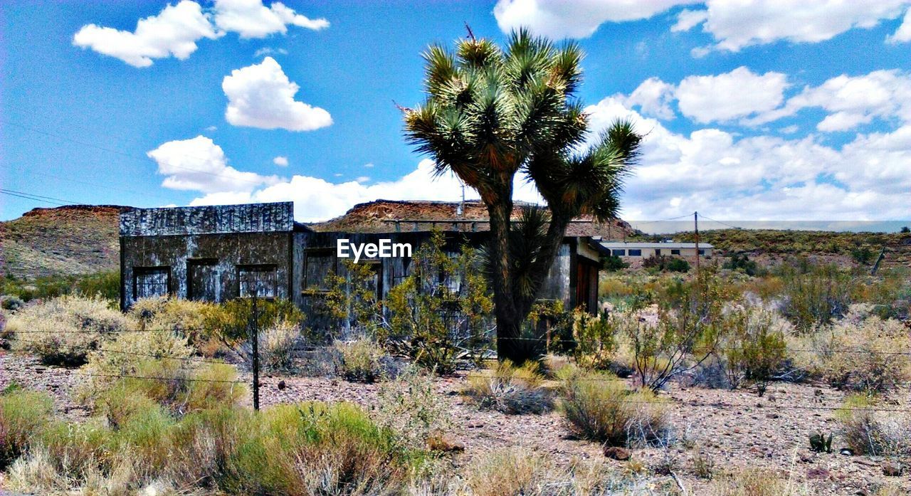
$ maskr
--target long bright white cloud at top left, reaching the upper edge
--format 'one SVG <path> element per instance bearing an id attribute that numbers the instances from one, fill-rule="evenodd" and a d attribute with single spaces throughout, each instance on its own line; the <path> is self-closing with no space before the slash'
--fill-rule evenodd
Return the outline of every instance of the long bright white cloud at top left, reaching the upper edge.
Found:
<path id="1" fill-rule="evenodd" d="M 288 25 L 319 30 L 329 22 L 310 19 L 280 2 L 266 7 L 261 0 L 216 0 L 214 7 L 203 9 L 197 2 L 180 0 L 165 6 L 158 15 L 139 19 L 132 32 L 83 25 L 73 35 L 73 45 L 113 56 L 130 66 L 148 67 L 156 58 L 186 59 L 202 38 L 216 39 L 227 32 L 236 32 L 241 38 L 261 38 L 285 34 Z"/>

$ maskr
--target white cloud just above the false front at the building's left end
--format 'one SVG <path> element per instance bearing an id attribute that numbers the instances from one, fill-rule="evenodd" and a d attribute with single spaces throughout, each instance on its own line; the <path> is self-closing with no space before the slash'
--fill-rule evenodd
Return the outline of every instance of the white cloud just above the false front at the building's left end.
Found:
<path id="1" fill-rule="evenodd" d="M 204 136 L 169 141 L 147 155 L 158 163 L 159 174 L 166 176 L 161 186 L 169 189 L 208 194 L 249 192 L 280 180 L 230 167 L 221 147 Z"/>

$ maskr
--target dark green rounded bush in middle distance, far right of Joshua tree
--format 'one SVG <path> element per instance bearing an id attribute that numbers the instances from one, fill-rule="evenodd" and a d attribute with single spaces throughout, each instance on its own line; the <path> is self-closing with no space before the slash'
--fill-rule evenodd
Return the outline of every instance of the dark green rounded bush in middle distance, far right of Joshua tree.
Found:
<path id="1" fill-rule="evenodd" d="M 782 313 L 798 330 L 808 332 L 844 315 L 856 282 L 836 266 L 793 268 L 783 265 Z"/>

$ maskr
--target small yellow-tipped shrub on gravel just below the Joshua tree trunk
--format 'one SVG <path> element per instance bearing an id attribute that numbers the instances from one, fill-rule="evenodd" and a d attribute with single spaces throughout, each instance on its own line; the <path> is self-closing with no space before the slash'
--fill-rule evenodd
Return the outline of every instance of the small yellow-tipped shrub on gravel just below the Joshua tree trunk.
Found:
<path id="1" fill-rule="evenodd" d="M 469 378 L 467 395 L 481 410 L 544 413 L 553 407 L 553 398 L 538 369 L 533 361 L 522 367 L 509 360 L 498 362 L 493 369 L 481 370 Z"/>

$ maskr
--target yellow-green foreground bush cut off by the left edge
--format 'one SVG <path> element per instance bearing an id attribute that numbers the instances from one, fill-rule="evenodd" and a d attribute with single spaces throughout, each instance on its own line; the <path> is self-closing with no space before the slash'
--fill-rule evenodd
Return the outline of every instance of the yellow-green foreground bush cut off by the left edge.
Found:
<path id="1" fill-rule="evenodd" d="M 53 408 L 54 402 L 43 393 L 13 390 L 0 395 L 0 470 L 26 450 Z"/>

